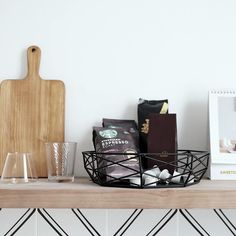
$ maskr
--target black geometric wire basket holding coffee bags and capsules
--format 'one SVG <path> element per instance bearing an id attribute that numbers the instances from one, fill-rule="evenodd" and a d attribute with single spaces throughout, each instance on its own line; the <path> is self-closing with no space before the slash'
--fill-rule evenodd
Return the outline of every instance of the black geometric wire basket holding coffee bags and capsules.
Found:
<path id="1" fill-rule="evenodd" d="M 178 150 L 177 153 L 98 153 L 84 151 L 84 167 L 101 186 L 127 188 L 186 187 L 200 182 L 209 162 L 209 152 Z M 172 161 L 168 161 L 172 160 Z M 143 163 L 152 168 L 143 168 Z"/>

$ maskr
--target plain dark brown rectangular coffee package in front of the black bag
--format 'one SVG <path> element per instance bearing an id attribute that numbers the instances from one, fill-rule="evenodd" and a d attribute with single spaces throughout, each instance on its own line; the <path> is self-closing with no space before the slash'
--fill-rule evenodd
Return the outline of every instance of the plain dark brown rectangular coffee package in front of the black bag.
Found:
<path id="1" fill-rule="evenodd" d="M 158 166 L 173 174 L 176 168 L 177 125 L 176 114 L 150 114 L 148 152 L 158 153 L 147 159 L 147 168 Z"/>

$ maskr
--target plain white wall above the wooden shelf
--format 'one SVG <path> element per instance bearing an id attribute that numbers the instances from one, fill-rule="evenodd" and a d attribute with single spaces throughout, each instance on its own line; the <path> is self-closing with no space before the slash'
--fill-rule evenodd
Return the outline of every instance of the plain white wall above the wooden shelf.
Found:
<path id="1" fill-rule="evenodd" d="M 0 0 L 0 79 L 26 74 L 66 85 L 66 139 L 92 149 L 103 117 L 136 119 L 139 97 L 168 98 L 179 147 L 208 148 L 209 89 L 234 88 L 234 0 Z"/>

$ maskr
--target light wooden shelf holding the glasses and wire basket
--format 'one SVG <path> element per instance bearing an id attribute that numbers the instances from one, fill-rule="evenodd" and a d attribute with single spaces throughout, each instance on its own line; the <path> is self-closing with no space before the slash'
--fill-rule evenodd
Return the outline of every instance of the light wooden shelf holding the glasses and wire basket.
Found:
<path id="1" fill-rule="evenodd" d="M 202 180 L 185 188 L 101 187 L 74 183 L 0 184 L 0 208 L 236 208 L 236 181 Z"/>

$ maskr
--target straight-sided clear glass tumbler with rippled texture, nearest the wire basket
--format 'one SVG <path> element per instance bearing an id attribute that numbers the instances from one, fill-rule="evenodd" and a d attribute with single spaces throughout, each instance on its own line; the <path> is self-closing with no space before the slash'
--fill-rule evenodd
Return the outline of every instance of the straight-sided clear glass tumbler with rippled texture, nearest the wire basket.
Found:
<path id="1" fill-rule="evenodd" d="M 45 143 L 48 180 L 54 182 L 73 182 L 77 143 Z"/>

